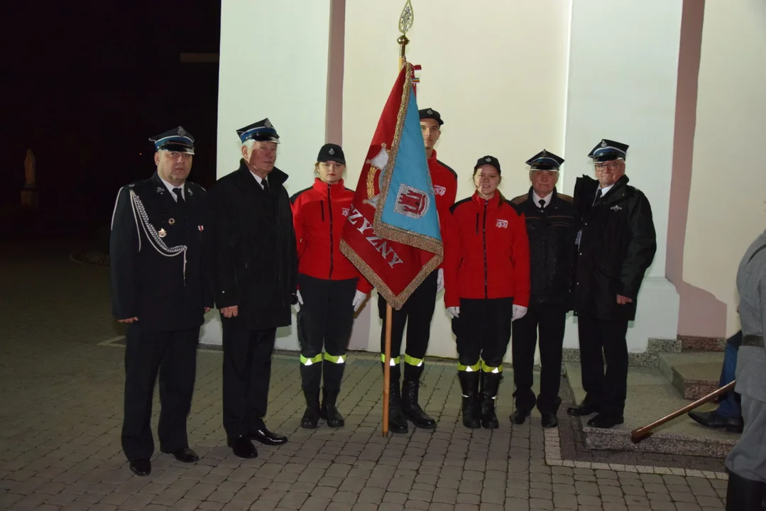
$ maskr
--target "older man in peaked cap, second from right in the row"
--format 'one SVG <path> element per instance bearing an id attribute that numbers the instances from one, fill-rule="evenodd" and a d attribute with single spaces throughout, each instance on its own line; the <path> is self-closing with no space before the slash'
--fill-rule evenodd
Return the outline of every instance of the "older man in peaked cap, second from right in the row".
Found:
<path id="1" fill-rule="evenodd" d="M 532 156 L 529 166 L 529 193 L 512 200 L 524 213 L 529 234 L 531 290 L 529 310 L 513 322 L 513 382 L 515 424 L 524 424 L 537 405 L 542 427 L 556 427 L 561 398 L 561 351 L 564 326 L 571 310 L 572 263 L 579 217 L 572 198 L 556 191 L 558 170 L 564 159 L 543 150 Z M 540 332 L 540 394 L 532 391 L 532 367 Z"/>

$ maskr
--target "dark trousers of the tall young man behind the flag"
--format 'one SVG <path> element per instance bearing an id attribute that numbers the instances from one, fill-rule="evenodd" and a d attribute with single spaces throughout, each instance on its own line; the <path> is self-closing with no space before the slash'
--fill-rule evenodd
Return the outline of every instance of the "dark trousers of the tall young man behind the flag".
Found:
<path id="1" fill-rule="evenodd" d="M 423 359 L 430 339 L 430 322 L 436 309 L 436 289 L 439 270 L 434 270 L 410 295 L 400 310 L 391 310 L 391 360 L 401 355 L 401 341 L 404 339 L 404 325 L 407 325 L 407 357 L 404 359 L 404 379 L 418 380 L 423 374 Z M 381 329 L 381 354 L 385 353 L 386 301 L 378 293 L 378 313 L 383 319 Z M 396 365 L 398 367 L 398 364 Z"/>

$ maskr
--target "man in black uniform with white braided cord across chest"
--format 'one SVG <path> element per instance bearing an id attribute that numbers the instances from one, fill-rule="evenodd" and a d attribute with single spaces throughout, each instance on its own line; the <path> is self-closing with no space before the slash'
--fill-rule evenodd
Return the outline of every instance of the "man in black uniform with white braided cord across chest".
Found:
<path id="1" fill-rule="evenodd" d="M 152 394 L 159 371 L 159 447 L 177 460 L 188 447 L 199 328 L 213 306 L 202 268 L 207 193 L 186 181 L 194 138 L 181 126 L 152 137 L 155 172 L 117 195 L 110 237 L 112 312 L 127 324 L 123 451 L 130 470 L 152 471 Z"/>

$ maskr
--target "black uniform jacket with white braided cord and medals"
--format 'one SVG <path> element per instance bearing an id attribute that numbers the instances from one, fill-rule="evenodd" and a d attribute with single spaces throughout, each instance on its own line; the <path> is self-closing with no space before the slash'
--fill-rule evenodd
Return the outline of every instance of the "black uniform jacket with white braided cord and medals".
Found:
<path id="1" fill-rule="evenodd" d="M 138 317 L 139 326 L 153 330 L 204 322 L 205 306 L 213 306 L 202 260 L 207 195 L 187 181 L 179 205 L 156 172 L 120 189 L 110 236 L 116 319 Z"/>

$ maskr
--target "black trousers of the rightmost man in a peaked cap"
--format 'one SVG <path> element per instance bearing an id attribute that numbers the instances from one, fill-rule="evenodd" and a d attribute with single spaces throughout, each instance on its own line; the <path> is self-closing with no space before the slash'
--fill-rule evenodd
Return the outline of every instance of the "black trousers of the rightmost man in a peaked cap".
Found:
<path id="1" fill-rule="evenodd" d="M 578 334 L 585 402 L 598 405 L 602 414 L 621 415 L 627 396 L 627 319 L 578 316 Z"/>

